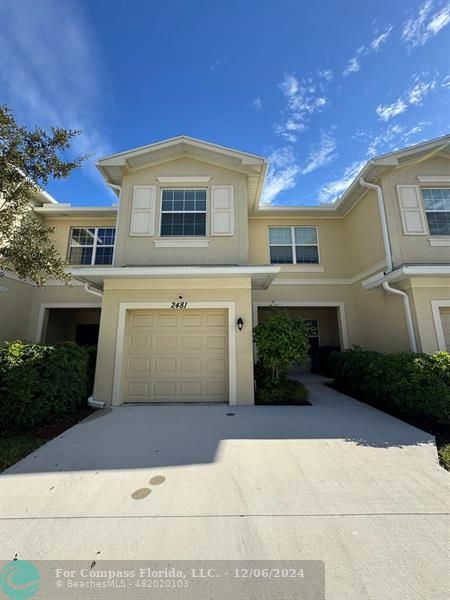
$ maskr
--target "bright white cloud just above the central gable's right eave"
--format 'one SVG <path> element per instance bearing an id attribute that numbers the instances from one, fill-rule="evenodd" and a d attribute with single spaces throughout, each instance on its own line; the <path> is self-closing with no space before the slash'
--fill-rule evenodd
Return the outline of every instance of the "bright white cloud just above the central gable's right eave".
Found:
<path id="1" fill-rule="evenodd" d="M 295 187 L 300 173 L 301 169 L 291 147 L 279 148 L 272 152 L 261 203 L 271 204 L 278 194 Z"/>

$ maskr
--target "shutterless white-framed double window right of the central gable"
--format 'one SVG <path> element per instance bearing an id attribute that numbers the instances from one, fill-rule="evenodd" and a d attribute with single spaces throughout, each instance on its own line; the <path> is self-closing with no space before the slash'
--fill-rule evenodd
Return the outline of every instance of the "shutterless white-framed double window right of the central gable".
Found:
<path id="1" fill-rule="evenodd" d="M 272 264 L 318 264 L 317 227 L 270 227 L 270 262 Z"/>

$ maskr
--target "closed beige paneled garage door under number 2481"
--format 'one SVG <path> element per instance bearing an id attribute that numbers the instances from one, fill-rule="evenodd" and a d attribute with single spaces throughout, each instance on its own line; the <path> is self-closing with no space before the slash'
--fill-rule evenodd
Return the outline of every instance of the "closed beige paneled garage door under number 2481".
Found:
<path id="1" fill-rule="evenodd" d="M 125 402 L 227 402 L 225 310 L 133 310 Z"/>

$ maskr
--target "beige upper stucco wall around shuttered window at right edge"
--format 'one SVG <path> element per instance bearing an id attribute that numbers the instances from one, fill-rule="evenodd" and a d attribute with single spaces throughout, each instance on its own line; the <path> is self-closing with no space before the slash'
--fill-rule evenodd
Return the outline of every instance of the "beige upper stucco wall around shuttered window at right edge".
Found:
<path id="1" fill-rule="evenodd" d="M 384 175 L 383 187 L 386 214 L 394 265 L 450 263 L 450 247 L 433 247 L 429 234 L 405 235 L 401 221 L 397 185 L 419 185 L 418 176 L 449 176 L 450 161 L 445 158 L 432 158 L 411 167 L 395 169 Z M 427 187 L 430 187 L 429 185 Z M 436 184 L 434 187 L 443 187 Z M 445 186 L 444 186 L 445 187 Z M 447 236 L 450 239 L 450 236 Z"/>

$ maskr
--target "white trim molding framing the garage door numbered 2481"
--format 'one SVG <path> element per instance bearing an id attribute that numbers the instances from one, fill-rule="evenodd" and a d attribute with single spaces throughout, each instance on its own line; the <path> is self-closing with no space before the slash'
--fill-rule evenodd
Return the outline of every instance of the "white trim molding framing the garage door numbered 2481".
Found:
<path id="1" fill-rule="evenodd" d="M 124 359 L 125 326 L 127 311 L 130 310 L 161 310 L 170 311 L 170 302 L 121 302 L 117 321 L 116 356 L 114 360 L 114 379 L 112 405 L 122 404 L 122 372 Z M 234 302 L 189 302 L 187 308 L 225 308 L 228 311 L 228 388 L 229 404 L 237 404 L 237 376 L 236 376 L 236 305 Z"/>

